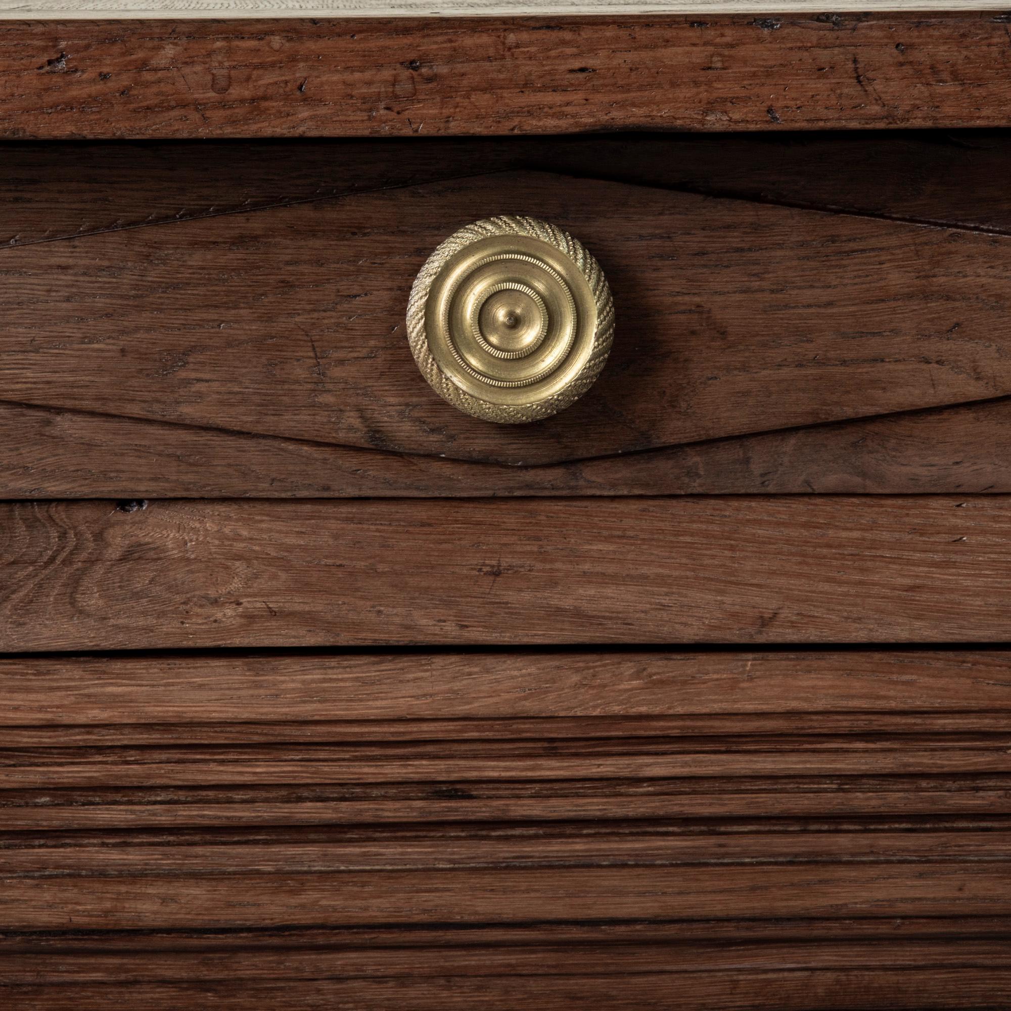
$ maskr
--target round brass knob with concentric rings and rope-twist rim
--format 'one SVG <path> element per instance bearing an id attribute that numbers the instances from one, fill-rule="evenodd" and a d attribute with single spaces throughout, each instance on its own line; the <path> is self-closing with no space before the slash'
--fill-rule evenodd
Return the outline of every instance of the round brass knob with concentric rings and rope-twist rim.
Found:
<path id="1" fill-rule="evenodd" d="M 532 217 L 468 224 L 429 257 L 407 304 L 407 339 L 455 407 L 515 425 L 550 418 L 604 368 L 611 289 L 578 240 Z"/>

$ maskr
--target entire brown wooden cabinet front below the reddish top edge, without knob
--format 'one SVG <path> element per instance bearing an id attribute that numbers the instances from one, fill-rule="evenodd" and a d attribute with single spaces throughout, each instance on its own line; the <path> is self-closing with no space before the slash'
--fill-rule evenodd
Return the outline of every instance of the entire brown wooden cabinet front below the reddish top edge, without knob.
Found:
<path id="1" fill-rule="evenodd" d="M 1007 1005 L 1004 133 L 73 152 L 0 169 L 0 1003 Z M 405 333 L 494 214 L 617 309 L 531 425 Z"/>

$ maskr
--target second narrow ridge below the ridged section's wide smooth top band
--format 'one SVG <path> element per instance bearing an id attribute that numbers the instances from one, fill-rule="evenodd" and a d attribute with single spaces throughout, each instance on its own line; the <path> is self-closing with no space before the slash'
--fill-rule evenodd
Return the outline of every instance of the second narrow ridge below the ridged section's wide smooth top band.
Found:
<path id="1" fill-rule="evenodd" d="M 1011 773 L 1008 735 L 799 735 L 633 738 L 596 741 L 452 741 L 372 745 L 260 744 L 17 749 L 0 756 L 0 789 L 314 786 L 359 782 L 458 784 L 557 779 L 671 779 L 704 776 L 924 775 Z M 116 766 L 122 765 L 121 768 Z M 451 788 L 452 789 L 452 788 Z"/>

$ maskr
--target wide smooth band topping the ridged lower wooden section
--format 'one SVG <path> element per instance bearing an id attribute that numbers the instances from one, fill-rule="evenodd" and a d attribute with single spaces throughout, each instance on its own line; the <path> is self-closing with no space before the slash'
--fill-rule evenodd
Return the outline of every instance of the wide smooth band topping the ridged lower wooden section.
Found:
<path id="1" fill-rule="evenodd" d="M 1011 710 L 1005 650 L 854 652 L 538 652 L 24 657 L 0 659 L 0 725 L 319 722 L 339 739 L 362 721 L 793 714 L 938 714 L 998 720 Z M 347 728 L 335 721 L 346 721 Z M 588 722 L 583 726 L 589 727 Z M 674 726 L 675 724 L 671 724 Z M 691 726 L 692 724 L 688 723 Z M 976 724 L 979 726 L 979 724 Z M 647 724 L 649 726 L 649 724 Z M 896 724 L 892 724 L 896 726 Z M 901 726 L 901 724 L 899 725 Z M 968 728 L 967 728 L 968 729 Z M 512 734 L 512 730 L 510 734 Z M 554 729 L 553 731 L 554 732 Z M 509 736 L 509 735 L 507 735 Z M 587 736 L 589 736 L 587 734 Z"/>

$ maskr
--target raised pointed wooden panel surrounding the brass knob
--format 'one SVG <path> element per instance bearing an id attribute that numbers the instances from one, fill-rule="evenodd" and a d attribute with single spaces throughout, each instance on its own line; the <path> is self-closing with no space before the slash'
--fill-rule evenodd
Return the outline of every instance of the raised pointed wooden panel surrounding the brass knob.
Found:
<path id="1" fill-rule="evenodd" d="M 572 408 L 489 426 L 432 394 L 403 312 L 446 234 L 516 208 L 585 241 L 608 273 L 618 333 Z M 8 250 L 0 391 L 391 452 L 555 463 L 1006 395 L 1009 280 L 1004 236 L 491 175 Z"/>

